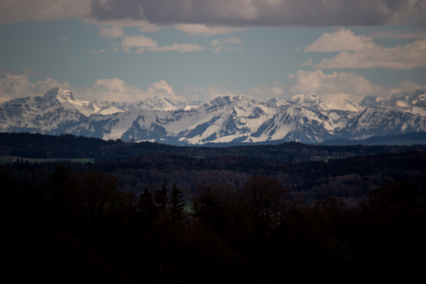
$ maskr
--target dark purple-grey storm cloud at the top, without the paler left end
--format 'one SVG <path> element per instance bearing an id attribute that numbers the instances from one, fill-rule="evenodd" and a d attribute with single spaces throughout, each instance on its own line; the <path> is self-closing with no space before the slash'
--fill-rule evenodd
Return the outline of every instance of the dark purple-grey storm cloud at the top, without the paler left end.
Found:
<path id="1" fill-rule="evenodd" d="M 384 25 L 420 14 L 408 0 L 93 0 L 92 17 L 149 20 L 160 25 L 225 26 Z M 418 12 L 416 12 L 418 11 Z"/>

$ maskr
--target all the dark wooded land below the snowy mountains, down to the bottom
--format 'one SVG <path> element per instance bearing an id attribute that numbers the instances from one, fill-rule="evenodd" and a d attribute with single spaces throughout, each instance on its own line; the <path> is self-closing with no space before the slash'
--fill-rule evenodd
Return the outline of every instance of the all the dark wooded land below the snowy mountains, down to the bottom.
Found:
<path id="1" fill-rule="evenodd" d="M 203 148 L 1 135 L 2 155 L 97 160 L 0 166 L 16 281 L 351 282 L 409 279 L 424 267 L 424 145 Z"/>

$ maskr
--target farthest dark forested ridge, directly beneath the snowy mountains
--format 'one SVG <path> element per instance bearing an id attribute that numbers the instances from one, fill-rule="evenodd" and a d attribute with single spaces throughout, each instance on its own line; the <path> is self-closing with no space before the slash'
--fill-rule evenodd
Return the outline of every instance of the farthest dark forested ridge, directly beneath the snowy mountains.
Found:
<path id="1" fill-rule="evenodd" d="M 76 137 L 74 135 L 43 135 L 38 133 L 0 133 L 0 155 L 24 158 L 95 158 L 96 161 L 122 160 L 157 152 L 205 158 L 221 156 L 245 156 L 285 161 L 316 161 L 321 157 L 351 157 L 386 153 L 421 152 L 426 145 L 411 146 L 326 146 L 284 142 L 275 145 L 247 145 L 229 147 L 172 146 L 167 144 L 139 142 L 125 143 L 121 140 L 105 141 L 100 138 Z"/>

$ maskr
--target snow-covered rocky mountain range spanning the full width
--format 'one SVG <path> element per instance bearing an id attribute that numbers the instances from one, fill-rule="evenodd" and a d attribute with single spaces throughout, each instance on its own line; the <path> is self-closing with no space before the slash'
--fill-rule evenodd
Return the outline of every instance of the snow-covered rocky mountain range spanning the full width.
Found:
<path id="1" fill-rule="evenodd" d="M 123 103 L 76 100 L 70 91 L 54 88 L 42 97 L 1 104 L 0 129 L 193 145 L 363 139 L 426 131 L 426 94 L 328 103 L 314 93 L 267 102 L 238 96 L 208 103 L 158 97 Z"/>

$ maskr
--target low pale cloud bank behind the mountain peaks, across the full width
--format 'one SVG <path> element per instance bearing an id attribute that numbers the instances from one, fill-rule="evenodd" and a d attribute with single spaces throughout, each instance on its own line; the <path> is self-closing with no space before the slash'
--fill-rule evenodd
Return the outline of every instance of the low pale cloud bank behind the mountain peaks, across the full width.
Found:
<path id="1" fill-rule="evenodd" d="M 127 84 L 119 78 L 97 80 L 92 86 L 71 86 L 69 82 L 60 83 L 52 78 L 31 83 L 28 77 L 18 72 L 3 70 L 6 78 L 0 77 L 0 103 L 16 97 L 44 95 L 53 87 L 69 89 L 75 98 L 81 100 L 111 100 L 134 102 L 145 98 L 159 96 L 170 100 L 211 100 L 217 96 L 245 95 L 258 100 L 291 98 L 298 94 L 315 92 L 323 101 L 343 101 L 350 99 L 359 101 L 366 95 L 379 95 L 388 98 L 394 93 L 412 92 L 426 89 L 412 81 L 403 81 L 396 88 L 387 88 L 371 84 L 368 79 L 353 72 L 332 72 L 324 74 L 321 70 L 299 70 L 288 76 L 285 83 L 275 81 L 272 86 L 260 84 L 247 93 L 233 89 L 233 84 L 212 84 L 207 87 L 187 87 L 183 92 L 176 93 L 165 80 L 152 83 L 147 89 Z"/>

